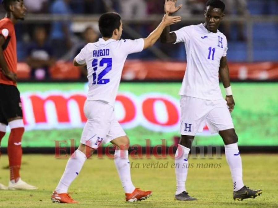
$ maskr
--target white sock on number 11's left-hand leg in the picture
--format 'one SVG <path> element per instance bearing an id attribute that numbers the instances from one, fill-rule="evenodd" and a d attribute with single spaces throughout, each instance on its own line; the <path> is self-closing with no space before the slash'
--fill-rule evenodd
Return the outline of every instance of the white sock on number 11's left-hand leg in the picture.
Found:
<path id="1" fill-rule="evenodd" d="M 177 190 L 176 195 L 186 191 L 185 189 L 185 181 L 187 177 L 188 171 L 188 154 L 190 149 L 178 145 L 176 155 L 175 155 L 175 172 L 176 172 L 176 181 L 177 181 Z"/>

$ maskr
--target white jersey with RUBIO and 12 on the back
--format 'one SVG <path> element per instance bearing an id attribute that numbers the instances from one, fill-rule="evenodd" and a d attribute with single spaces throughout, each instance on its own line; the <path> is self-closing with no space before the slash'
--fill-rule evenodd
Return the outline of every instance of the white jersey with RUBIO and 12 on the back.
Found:
<path id="1" fill-rule="evenodd" d="M 88 43 L 75 57 L 79 64 L 87 64 L 89 92 L 87 100 L 104 100 L 114 106 L 127 55 L 141 52 L 143 39 Z"/>

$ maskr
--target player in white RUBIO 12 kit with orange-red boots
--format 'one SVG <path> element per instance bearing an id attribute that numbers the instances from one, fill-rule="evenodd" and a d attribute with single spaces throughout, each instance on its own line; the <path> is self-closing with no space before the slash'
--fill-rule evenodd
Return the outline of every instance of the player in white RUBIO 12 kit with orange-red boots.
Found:
<path id="1" fill-rule="evenodd" d="M 67 162 L 65 172 L 51 195 L 53 202 L 77 203 L 67 194 L 68 188 L 86 159 L 91 157 L 102 142 L 111 142 L 118 147 L 114 161 L 126 193 L 126 201 L 134 202 L 151 195 L 151 191 L 142 191 L 132 184 L 128 160 L 129 138 L 115 118 L 114 103 L 127 55 L 151 47 L 166 26 L 180 21 L 180 16 L 171 17 L 165 14 L 159 26 L 147 38 L 120 40 L 121 16 L 117 13 L 105 13 L 100 17 L 102 38 L 96 43 L 88 43 L 74 59 L 75 66 L 87 65 L 88 69 L 89 92 L 84 105 L 88 120 L 79 148 Z"/>

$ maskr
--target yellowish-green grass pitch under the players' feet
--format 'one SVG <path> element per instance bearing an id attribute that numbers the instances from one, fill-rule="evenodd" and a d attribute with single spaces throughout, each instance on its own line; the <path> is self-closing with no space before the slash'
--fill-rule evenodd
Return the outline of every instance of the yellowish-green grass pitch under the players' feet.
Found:
<path id="1" fill-rule="evenodd" d="M 190 195 L 198 198 L 193 202 L 174 200 L 176 181 L 172 158 L 130 158 L 134 185 L 153 191 L 146 201 L 135 203 L 125 202 L 113 160 L 107 157 L 99 159 L 94 155 L 86 161 L 69 189 L 79 204 L 53 204 L 50 195 L 62 176 L 66 162 L 67 159 L 57 159 L 54 155 L 24 155 L 21 177 L 38 186 L 39 190 L 1 190 L 0 207 L 278 207 L 277 154 L 242 154 L 245 184 L 263 190 L 261 196 L 242 202 L 233 201 L 232 180 L 225 155 L 220 159 L 190 159 L 186 188 Z M 203 168 L 200 165 L 197 167 L 197 164 L 203 164 Z M 2 155 L 0 183 L 5 185 L 9 178 L 7 165 L 8 157 Z"/>

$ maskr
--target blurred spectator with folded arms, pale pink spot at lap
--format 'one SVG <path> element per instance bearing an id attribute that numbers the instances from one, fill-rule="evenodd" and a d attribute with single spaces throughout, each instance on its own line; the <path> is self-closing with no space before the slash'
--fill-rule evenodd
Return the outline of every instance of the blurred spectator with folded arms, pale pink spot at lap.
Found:
<path id="1" fill-rule="evenodd" d="M 33 39 L 28 47 L 27 63 L 31 67 L 31 78 L 43 80 L 49 78 L 49 67 L 54 64 L 53 49 L 46 43 L 46 31 L 44 27 L 36 27 Z"/>

